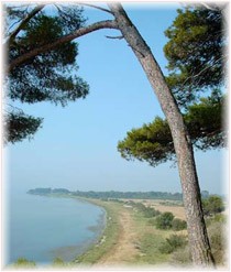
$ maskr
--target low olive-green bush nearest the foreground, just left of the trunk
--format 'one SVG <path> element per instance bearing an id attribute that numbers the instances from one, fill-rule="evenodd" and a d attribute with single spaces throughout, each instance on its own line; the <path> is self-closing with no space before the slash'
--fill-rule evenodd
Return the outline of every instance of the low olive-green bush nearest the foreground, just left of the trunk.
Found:
<path id="1" fill-rule="evenodd" d="M 172 235 L 169 238 L 165 240 L 164 243 L 158 248 L 161 253 L 172 253 L 178 248 L 184 248 L 187 244 L 187 240 L 185 236 L 176 236 Z"/>

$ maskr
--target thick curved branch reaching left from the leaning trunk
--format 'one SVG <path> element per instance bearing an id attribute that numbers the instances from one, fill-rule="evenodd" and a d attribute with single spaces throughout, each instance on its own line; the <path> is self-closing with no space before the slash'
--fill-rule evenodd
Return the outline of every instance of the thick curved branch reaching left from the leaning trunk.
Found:
<path id="1" fill-rule="evenodd" d="M 38 54 L 42 54 L 42 53 L 45 53 L 47 51 L 51 51 L 51 50 L 54 50 L 56 46 L 61 45 L 61 44 L 64 44 L 64 43 L 67 43 L 67 42 L 70 42 L 79 36 L 82 36 L 82 35 L 86 35 L 88 33 L 91 33 L 94 31 L 97 31 L 97 30 L 101 30 L 101 29 L 118 29 L 118 25 L 117 25 L 117 22 L 113 20 L 107 20 L 107 21 L 100 21 L 100 22 L 97 22 L 97 23 L 94 23 L 91 25 L 88 25 L 88 26 L 85 26 L 85 28 L 81 28 L 79 30 L 76 30 L 75 32 L 68 34 L 68 35 L 65 35 L 63 37 L 61 37 L 59 40 L 53 42 L 53 43 L 50 43 L 50 44 L 46 44 L 42 47 L 37 47 L 37 48 L 34 48 L 21 56 L 19 56 L 18 58 L 13 59 L 7 67 L 6 67 L 6 73 L 9 73 L 11 72 L 13 68 L 15 68 L 16 66 L 25 63 L 29 58 L 31 57 L 34 57 Z"/>

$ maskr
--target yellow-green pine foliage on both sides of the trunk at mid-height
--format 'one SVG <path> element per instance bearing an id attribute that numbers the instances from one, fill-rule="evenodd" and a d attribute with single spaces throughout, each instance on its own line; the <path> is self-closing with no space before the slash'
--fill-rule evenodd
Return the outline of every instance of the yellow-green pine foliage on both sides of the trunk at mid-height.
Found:
<path id="1" fill-rule="evenodd" d="M 184 120 L 197 149 L 206 151 L 226 145 L 223 107 L 224 97 L 219 91 L 188 107 Z M 167 121 L 156 117 L 152 123 L 132 129 L 124 140 L 119 141 L 118 151 L 127 160 L 146 161 L 152 166 L 174 160 L 175 150 Z"/>

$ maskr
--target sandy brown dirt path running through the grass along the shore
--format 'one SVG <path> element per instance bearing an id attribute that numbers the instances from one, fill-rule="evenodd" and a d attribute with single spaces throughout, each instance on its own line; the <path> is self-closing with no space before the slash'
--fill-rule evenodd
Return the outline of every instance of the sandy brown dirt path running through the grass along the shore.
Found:
<path id="1" fill-rule="evenodd" d="M 107 266 L 107 265 L 118 265 L 131 263 L 131 260 L 138 253 L 135 249 L 135 231 L 134 224 L 131 215 L 132 210 L 124 207 L 121 209 L 119 215 L 120 224 L 120 235 L 114 247 L 103 255 L 97 265 Z"/>

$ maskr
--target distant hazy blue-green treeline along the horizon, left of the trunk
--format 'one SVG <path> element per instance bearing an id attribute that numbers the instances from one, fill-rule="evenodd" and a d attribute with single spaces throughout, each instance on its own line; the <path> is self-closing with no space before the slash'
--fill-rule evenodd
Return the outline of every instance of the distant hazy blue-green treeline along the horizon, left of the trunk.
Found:
<path id="1" fill-rule="evenodd" d="M 30 189 L 29 194 L 33 195 L 48 195 L 48 194 L 68 194 L 73 196 L 81 196 L 89 198 L 132 198 L 132 199 L 172 199 L 172 200 L 182 200 L 183 195 L 179 193 L 165 193 L 165 192 L 81 192 L 75 191 L 70 192 L 66 188 L 35 188 Z"/>

